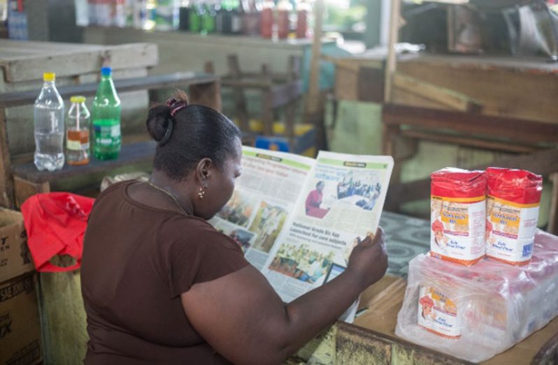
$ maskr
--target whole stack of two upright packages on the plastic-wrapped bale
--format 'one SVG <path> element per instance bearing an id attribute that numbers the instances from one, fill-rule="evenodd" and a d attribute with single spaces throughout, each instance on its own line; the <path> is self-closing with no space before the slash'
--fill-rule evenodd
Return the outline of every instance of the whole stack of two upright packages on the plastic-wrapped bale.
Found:
<path id="1" fill-rule="evenodd" d="M 396 334 L 481 362 L 558 315 L 558 237 L 536 229 L 542 179 L 431 174 L 431 251 L 409 264 Z"/>

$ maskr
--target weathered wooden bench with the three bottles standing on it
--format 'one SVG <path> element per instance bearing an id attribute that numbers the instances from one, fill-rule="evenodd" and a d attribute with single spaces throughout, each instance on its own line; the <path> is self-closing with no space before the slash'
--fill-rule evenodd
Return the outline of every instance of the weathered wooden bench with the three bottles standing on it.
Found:
<path id="1" fill-rule="evenodd" d="M 92 82 L 59 87 L 58 91 L 62 98 L 67 100 L 73 95 L 94 96 L 97 86 L 96 82 Z M 191 103 L 208 105 L 216 110 L 221 109 L 220 78 L 215 75 L 173 73 L 138 77 L 115 80 L 115 87 L 119 93 L 138 90 L 189 88 Z M 6 108 L 32 105 L 37 95 L 38 90 L 0 94 L 0 204 L 4 207 L 19 207 L 29 196 L 35 193 L 49 192 L 50 184 L 54 181 L 108 172 L 130 165 L 145 165 L 152 161 L 155 154 L 155 142 L 148 141 L 148 136 L 145 133 L 141 137 L 133 138 L 134 142 L 129 144 L 126 144 L 129 138 L 124 135 L 124 144 L 117 160 L 96 161 L 92 159 L 88 165 L 65 165 L 62 170 L 55 172 L 38 171 L 34 163 L 29 161 L 29 158 L 27 158 L 27 161 L 15 161 L 15 158 L 10 156 L 8 148 L 9 138 L 6 132 L 6 123 L 9 123 L 9 121 L 6 120 Z"/>

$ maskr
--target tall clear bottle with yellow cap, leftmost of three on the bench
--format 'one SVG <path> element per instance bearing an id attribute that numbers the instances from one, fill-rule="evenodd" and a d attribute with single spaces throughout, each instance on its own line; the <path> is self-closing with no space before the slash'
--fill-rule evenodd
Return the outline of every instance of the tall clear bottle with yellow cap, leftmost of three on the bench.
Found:
<path id="1" fill-rule="evenodd" d="M 55 79 L 55 73 L 43 74 L 43 89 L 34 105 L 34 163 L 39 171 L 55 171 L 64 166 L 64 101 Z"/>

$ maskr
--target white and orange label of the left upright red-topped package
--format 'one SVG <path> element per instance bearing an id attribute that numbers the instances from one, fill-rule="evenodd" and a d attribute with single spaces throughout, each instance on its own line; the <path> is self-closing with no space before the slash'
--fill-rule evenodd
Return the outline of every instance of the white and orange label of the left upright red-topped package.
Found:
<path id="1" fill-rule="evenodd" d="M 431 197 L 433 255 L 471 265 L 485 255 L 485 197 Z"/>

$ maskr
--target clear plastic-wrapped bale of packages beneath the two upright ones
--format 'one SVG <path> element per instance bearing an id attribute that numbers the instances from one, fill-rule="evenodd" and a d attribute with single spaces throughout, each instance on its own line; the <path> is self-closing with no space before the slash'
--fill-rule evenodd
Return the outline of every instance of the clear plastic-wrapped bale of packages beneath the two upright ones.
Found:
<path id="1" fill-rule="evenodd" d="M 522 341 L 558 315 L 558 237 L 537 230 L 529 265 L 464 267 L 429 255 L 409 265 L 396 335 L 471 362 Z"/>

